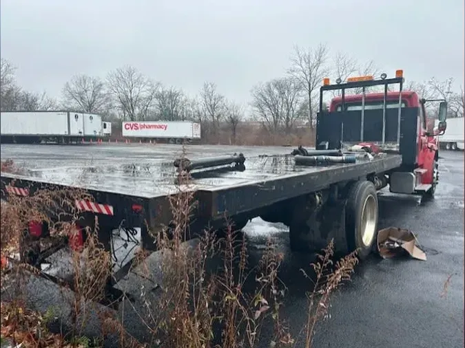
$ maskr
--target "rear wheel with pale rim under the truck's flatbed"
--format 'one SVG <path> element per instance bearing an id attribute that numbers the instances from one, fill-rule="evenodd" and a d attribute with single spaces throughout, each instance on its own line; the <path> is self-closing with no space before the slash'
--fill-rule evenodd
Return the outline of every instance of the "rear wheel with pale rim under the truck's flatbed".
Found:
<path id="1" fill-rule="evenodd" d="M 373 250 L 378 232 L 378 196 L 370 181 L 356 182 L 349 189 L 346 203 L 346 236 L 349 251 L 358 250 L 365 259 Z"/>

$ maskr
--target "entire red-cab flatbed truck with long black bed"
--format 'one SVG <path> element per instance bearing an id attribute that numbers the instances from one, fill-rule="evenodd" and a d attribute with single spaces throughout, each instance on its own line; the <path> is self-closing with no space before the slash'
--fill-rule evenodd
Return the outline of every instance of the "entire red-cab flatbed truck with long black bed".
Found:
<path id="1" fill-rule="evenodd" d="M 287 155 L 235 153 L 180 157 L 174 162 L 115 163 L 85 171 L 51 168 L 28 175 L 1 173 L 1 197 L 8 200 L 12 195 L 29 197 L 41 189 L 83 188 L 90 197 L 75 202 L 80 219 L 69 237 L 73 248 L 76 243 L 83 246 L 85 228 L 93 228 L 98 221 L 99 239 L 106 250 L 114 250 L 114 230 L 138 228 L 137 248 L 153 252 L 158 233 L 173 227 L 167 197 L 178 195 L 180 177 L 189 173 L 192 181 L 183 188 L 192 192 L 197 204 L 187 239 L 206 226 L 223 231 L 225 217 L 237 230 L 249 219 L 261 217 L 289 226 L 292 250 L 324 248 L 333 239 L 337 252 L 358 250 L 358 257 L 364 259 L 372 252 L 378 231 L 377 192 L 389 187 L 393 193 L 431 197 L 439 180 L 436 144 L 437 135 L 446 127 L 446 102 L 440 105 L 437 132 L 428 133 L 424 102 L 415 92 L 402 91 L 403 82 L 402 71 L 395 78 L 362 76 L 335 85 L 325 78 L 315 150 L 300 146 Z M 388 91 L 394 84 L 399 91 Z M 373 86 L 384 87 L 384 93 L 366 93 Z M 351 88 L 361 88 L 362 95 L 346 96 Z M 342 96 L 324 107 L 324 92 L 334 90 L 342 91 Z M 48 234 L 41 221 L 31 221 L 28 229 L 23 243 L 29 243 L 32 235 L 37 240 Z M 21 258 L 37 267 L 50 259 L 47 250 L 34 250 L 34 257 L 24 254 Z M 116 285 L 131 267 L 132 261 L 115 266 L 108 279 L 111 294 L 118 294 Z"/>

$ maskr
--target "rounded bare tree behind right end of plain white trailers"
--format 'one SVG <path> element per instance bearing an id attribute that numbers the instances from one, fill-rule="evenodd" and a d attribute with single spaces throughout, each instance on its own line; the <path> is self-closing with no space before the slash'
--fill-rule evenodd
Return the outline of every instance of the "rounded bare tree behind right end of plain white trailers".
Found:
<path id="1" fill-rule="evenodd" d="M 104 113 L 110 103 L 101 78 L 85 74 L 72 76 L 62 91 L 63 105 L 77 111 Z"/>

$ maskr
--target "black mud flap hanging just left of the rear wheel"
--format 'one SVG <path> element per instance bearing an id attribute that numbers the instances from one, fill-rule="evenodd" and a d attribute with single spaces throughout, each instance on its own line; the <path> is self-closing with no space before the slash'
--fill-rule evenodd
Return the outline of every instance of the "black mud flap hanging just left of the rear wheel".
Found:
<path id="1" fill-rule="evenodd" d="M 310 214 L 304 214 L 300 210 L 293 217 L 289 227 L 291 248 L 300 251 L 319 251 L 326 248 L 333 239 L 335 252 L 346 254 L 349 246 L 345 228 L 345 201 L 328 202 L 308 213 Z M 306 216 L 308 218 L 304 219 Z"/>

